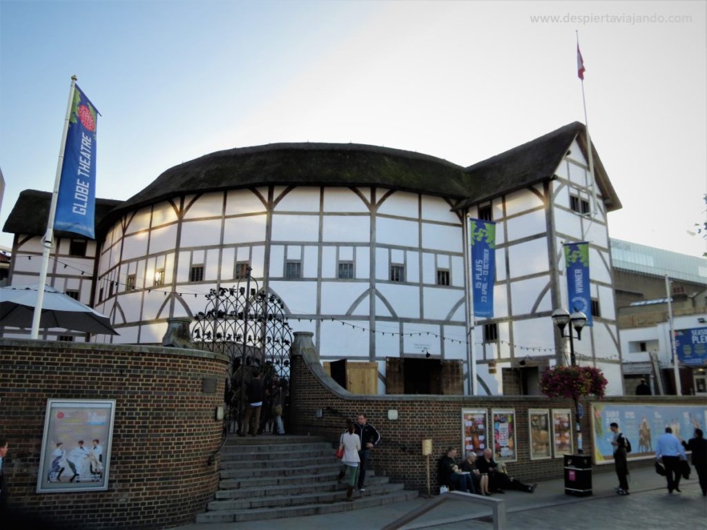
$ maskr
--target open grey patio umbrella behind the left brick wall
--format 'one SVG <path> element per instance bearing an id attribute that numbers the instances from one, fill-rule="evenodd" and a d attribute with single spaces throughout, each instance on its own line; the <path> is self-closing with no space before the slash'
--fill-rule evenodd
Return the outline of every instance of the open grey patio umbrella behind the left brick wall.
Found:
<path id="1" fill-rule="evenodd" d="M 0 288 L 0 325 L 31 328 L 35 305 L 37 305 L 37 285 Z M 118 334 L 110 326 L 110 319 L 105 314 L 83 305 L 49 285 L 45 285 L 40 327 L 107 335 Z"/>

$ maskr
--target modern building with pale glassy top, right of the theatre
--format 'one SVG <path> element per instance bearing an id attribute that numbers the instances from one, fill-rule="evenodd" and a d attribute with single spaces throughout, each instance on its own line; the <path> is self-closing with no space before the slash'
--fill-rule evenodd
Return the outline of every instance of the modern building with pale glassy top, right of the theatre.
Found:
<path id="1" fill-rule="evenodd" d="M 611 245 L 626 394 L 641 379 L 653 394 L 676 391 L 670 297 L 682 394 L 707 395 L 707 260 L 615 239 Z"/>

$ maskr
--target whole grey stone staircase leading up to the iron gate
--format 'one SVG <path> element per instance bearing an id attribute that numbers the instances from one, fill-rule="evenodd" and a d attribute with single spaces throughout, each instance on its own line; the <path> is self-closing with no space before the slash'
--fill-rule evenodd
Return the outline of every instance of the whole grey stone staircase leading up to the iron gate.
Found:
<path id="1" fill-rule="evenodd" d="M 197 523 L 299 517 L 385 505 L 417 497 L 417 491 L 366 473 L 366 491 L 346 502 L 337 483 L 340 463 L 331 442 L 308 436 L 229 437 L 221 451 L 216 499 Z M 344 479 L 345 481 L 346 479 Z"/>

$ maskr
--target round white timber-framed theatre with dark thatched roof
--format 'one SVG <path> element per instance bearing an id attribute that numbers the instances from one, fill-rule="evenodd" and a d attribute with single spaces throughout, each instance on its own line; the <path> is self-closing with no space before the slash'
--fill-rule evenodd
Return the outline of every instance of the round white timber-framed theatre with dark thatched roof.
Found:
<path id="1" fill-rule="evenodd" d="M 550 317 L 571 309 L 562 244 L 588 241 L 594 324 L 575 349 L 619 395 L 607 213 L 621 204 L 596 151 L 592 181 L 585 145 L 575 122 L 469 167 L 356 144 L 211 153 L 100 200 L 97 240 L 59 234 L 48 283 L 110 316 L 120 335 L 91 341 L 156 344 L 168 318 L 250 270 L 322 362 L 366 363 L 379 393 L 469 394 L 475 365 L 479 394 L 538 394 L 544 367 L 568 363 Z M 48 206 L 27 190 L 8 218 L 13 284 L 37 281 Z M 470 316 L 469 217 L 497 223 L 488 319 Z"/>

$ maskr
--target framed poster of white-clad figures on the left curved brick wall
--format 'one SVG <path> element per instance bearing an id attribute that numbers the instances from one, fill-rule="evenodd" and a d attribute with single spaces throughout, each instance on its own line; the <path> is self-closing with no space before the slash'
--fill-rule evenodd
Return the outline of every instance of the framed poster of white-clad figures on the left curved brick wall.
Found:
<path id="1" fill-rule="evenodd" d="M 48 399 L 37 493 L 108 489 L 115 399 Z"/>

